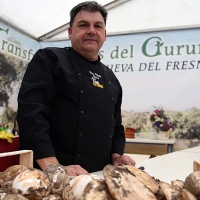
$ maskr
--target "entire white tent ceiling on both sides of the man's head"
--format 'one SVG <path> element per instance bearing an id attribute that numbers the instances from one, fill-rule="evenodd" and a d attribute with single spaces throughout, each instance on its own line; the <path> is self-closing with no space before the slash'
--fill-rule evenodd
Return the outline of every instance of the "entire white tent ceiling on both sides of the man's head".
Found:
<path id="1" fill-rule="evenodd" d="M 0 20 L 36 40 L 67 39 L 69 12 L 82 0 L 0 1 Z M 108 10 L 107 34 L 200 28 L 199 0 L 97 0 Z"/>

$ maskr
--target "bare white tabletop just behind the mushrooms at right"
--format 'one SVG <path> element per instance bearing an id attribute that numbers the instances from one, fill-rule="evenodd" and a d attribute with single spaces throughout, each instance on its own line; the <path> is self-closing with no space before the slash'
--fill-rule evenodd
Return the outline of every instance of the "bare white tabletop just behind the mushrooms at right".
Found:
<path id="1" fill-rule="evenodd" d="M 171 183 L 172 180 L 185 181 L 193 172 L 193 161 L 200 161 L 200 147 L 189 148 L 136 162 L 136 167 L 143 166 L 144 171 L 160 181 Z M 102 171 L 93 174 L 102 176 Z"/>

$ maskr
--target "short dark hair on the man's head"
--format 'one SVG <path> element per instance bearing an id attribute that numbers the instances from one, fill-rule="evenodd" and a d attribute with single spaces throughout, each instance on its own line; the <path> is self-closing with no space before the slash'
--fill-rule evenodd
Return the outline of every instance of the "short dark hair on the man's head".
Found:
<path id="1" fill-rule="evenodd" d="M 108 15 L 106 9 L 103 8 L 96 1 L 85 1 L 85 2 L 79 3 L 70 11 L 70 22 L 69 22 L 70 26 L 72 26 L 74 22 L 74 18 L 76 17 L 77 13 L 81 10 L 86 10 L 88 12 L 97 12 L 97 11 L 100 12 L 106 24 L 106 19 Z"/>

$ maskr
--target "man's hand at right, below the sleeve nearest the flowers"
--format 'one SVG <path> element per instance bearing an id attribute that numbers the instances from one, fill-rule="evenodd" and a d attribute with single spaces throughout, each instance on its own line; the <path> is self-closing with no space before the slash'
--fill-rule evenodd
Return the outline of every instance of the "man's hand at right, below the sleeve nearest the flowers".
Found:
<path id="1" fill-rule="evenodd" d="M 114 166 L 121 166 L 121 165 L 132 165 L 135 166 L 135 161 L 126 155 L 120 155 L 117 153 L 112 154 L 112 164 Z"/>

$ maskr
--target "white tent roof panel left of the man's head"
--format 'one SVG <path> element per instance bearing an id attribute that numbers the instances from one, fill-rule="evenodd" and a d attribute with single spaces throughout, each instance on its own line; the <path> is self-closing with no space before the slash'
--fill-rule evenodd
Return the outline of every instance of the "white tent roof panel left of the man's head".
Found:
<path id="1" fill-rule="evenodd" d="M 70 10 L 83 0 L 1 0 L 0 19 L 35 39 L 70 20 Z M 113 0 L 99 0 L 101 5 Z"/>

